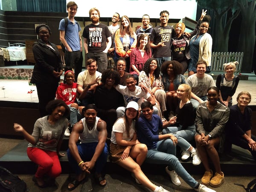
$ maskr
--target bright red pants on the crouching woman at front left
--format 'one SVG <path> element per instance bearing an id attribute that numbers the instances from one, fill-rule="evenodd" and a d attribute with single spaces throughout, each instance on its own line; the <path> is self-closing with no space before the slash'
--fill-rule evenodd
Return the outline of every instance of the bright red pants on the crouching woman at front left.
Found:
<path id="1" fill-rule="evenodd" d="M 49 177 L 56 178 L 61 174 L 61 163 L 58 154 L 55 151 L 43 150 L 35 147 L 28 147 L 27 154 L 29 159 L 38 164 L 38 169 L 35 177 Z"/>

